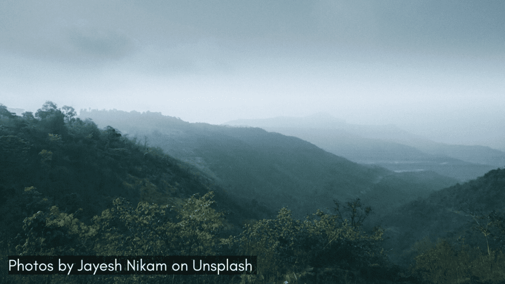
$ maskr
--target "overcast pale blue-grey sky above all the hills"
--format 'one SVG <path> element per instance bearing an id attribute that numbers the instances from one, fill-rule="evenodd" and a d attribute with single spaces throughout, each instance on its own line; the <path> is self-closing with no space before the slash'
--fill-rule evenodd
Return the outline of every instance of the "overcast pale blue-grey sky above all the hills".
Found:
<path id="1" fill-rule="evenodd" d="M 0 103 L 308 116 L 505 149 L 501 0 L 0 1 Z"/>

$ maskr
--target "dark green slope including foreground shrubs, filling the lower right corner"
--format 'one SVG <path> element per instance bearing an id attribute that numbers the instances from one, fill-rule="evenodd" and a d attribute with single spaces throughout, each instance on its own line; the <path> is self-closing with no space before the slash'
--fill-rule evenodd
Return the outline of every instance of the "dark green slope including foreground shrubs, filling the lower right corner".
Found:
<path id="1" fill-rule="evenodd" d="M 382 219 L 385 235 L 396 231 L 384 247 L 431 282 L 503 282 L 503 188 L 505 169 L 496 169 L 410 202 Z"/>

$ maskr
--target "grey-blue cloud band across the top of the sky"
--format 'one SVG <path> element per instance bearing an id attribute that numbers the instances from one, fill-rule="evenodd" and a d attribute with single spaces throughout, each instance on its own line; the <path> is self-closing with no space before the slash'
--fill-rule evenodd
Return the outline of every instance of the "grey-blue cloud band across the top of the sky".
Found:
<path id="1" fill-rule="evenodd" d="M 146 46 L 171 52 L 216 38 L 222 53 L 244 56 L 276 50 L 334 56 L 347 48 L 485 56 L 502 53 L 504 11 L 502 1 L 480 0 L 3 1 L 0 49 L 98 63 L 124 59 Z M 217 62 L 213 54 L 206 56 Z M 194 62 L 165 62 L 181 61 L 179 66 Z"/>

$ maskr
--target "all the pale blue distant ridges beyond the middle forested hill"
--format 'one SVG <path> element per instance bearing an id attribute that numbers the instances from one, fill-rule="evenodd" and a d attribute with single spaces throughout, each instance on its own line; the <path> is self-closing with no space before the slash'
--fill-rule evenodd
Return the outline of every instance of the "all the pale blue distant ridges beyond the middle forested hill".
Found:
<path id="1" fill-rule="evenodd" d="M 505 153 L 484 146 L 435 143 L 394 125 L 331 124 L 331 116 L 233 120 L 225 125 L 247 123 L 267 131 L 300 137 L 335 155 L 390 170 L 434 170 L 462 181 L 476 178 L 505 165 Z M 304 121 L 298 123 L 298 121 Z M 268 123 L 265 123 L 268 121 Z M 329 122 L 330 121 L 330 122 Z"/>

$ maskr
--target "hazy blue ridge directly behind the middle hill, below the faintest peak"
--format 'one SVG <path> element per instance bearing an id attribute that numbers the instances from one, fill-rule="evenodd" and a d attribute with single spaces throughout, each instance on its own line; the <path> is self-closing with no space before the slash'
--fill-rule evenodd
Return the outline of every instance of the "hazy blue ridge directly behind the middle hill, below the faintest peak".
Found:
<path id="1" fill-rule="evenodd" d="M 378 165 L 391 171 L 434 171 L 466 181 L 493 169 L 490 165 L 470 163 L 449 155 L 428 154 L 393 140 L 365 138 L 343 129 L 267 127 L 266 130 L 299 137 L 353 162 Z"/>

